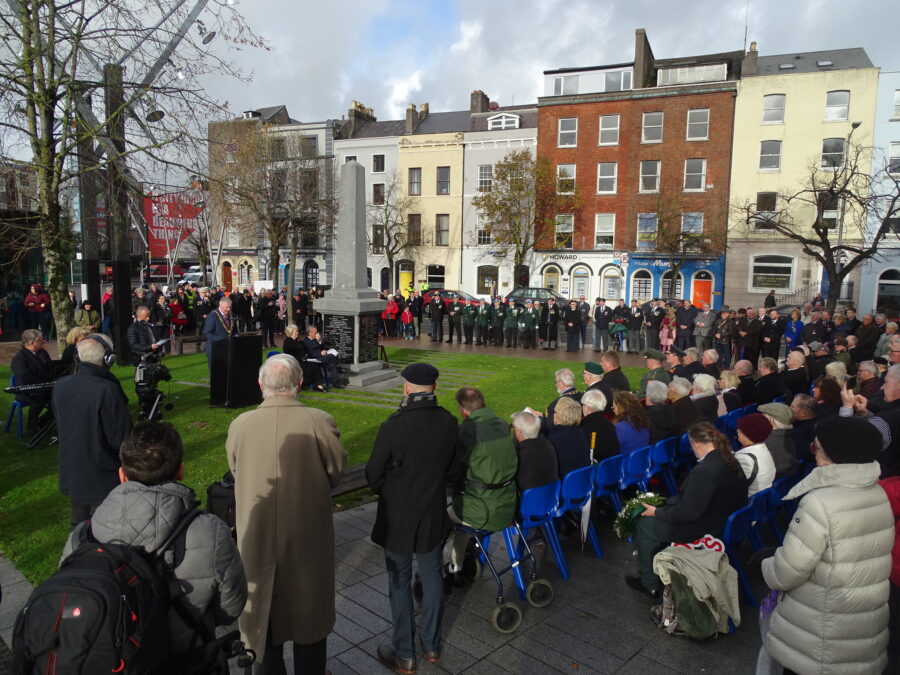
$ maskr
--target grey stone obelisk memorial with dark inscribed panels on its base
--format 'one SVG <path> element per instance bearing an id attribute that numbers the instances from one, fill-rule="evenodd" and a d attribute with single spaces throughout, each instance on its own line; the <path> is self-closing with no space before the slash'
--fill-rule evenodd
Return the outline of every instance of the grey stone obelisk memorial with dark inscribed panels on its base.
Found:
<path id="1" fill-rule="evenodd" d="M 378 358 L 378 322 L 384 302 L 366 283 L 366 183 L 358 162 L 341 166 L 334 239 L 334 285 L 316 302 L 325 341 L 350 370 L 347 385 L 365 387 L 397 376 Z"/>

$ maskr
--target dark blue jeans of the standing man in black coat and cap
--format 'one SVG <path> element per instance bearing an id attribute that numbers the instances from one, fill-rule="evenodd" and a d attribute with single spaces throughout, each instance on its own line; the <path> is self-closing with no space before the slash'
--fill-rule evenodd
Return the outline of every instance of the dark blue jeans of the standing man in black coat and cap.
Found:
<path id="1" fill-rule="evenodd" d="M 426 651 L 441 651 L 444 618 L 444 578 L 441 574 L 443 546 L 417 553 L 422 579 L 422 645 Z M 416 614 L 412 599 L 412 556 L 384 552 L 388 572 L 388 594 L 394 622 L 394 653 L 401 659 L 415 657 Z"/>

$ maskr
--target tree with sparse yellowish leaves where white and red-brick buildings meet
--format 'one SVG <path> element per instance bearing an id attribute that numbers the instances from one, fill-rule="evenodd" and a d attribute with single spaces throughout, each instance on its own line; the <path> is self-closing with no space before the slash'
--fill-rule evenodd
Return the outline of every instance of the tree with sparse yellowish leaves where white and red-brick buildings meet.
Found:
<path id="1" fill-rule="evenodd" d="M 491 189 L 473 200 L 496 255 L 512 258 L 516 279 L 536 247 L 553 247 L 556 217 L 581 206 L 574 178 L 558 177 L 549 160 L 516 150 L 494 165 Z"/>

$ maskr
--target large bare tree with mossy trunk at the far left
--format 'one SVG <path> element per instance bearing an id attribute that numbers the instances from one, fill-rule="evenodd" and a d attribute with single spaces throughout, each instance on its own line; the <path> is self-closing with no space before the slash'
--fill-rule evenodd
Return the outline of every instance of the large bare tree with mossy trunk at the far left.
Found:
<path id="1" fill-rule="evenodd" d="M 215 2 L 205 10 L 208 0 L 2 1 L 9 11 L 0 13 L 0 133 L 8 148 L 33 156 L 48 291 L 64 335 L 73 314 L 65 191 L 85 172 L 114 169 L 136 212 L 137 176 L 181 166 L 184 148 L 205 136 L 199 121 L 222 107 L 204 94 L 200 78 L 241 77 L 215 53 L 213 38 L 264 44 L 234 7 Z M 128 77 L 120 81 L 123 69 Z M 95 160 L 87 166 L 76 161 L 85 146 Z M 116 227 L 127 232 L 123 223 Z"/>

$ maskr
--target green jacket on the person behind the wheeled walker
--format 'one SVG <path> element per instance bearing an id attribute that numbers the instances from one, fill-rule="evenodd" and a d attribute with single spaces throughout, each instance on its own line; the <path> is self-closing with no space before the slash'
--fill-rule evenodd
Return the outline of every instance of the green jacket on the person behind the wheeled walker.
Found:
<path id="1" fill-rule="evenodd" d="M 509 424 L 484 407 L 459 425 L 459 439 L 449 476 L 453 510 L 471 527 L 499 532 L 516 515 L 519 459 Z"/>

